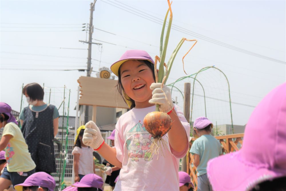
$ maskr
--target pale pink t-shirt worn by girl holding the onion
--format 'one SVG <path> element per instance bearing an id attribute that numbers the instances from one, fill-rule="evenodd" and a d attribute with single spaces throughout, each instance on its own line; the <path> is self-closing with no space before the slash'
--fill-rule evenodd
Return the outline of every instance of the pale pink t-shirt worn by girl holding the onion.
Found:
<path id="1" fill-rule="evenodd" d="M 186 130 L 189 140 L 190 124 L 182 111 L 175 106 L 177 115 Z M 148 160 L 147 153 L 153 141 L 143 125 L 147 113 L 155 111 L 155 106 L 135 109 L 123 114 L 116 123 L 116 157 L 122 162 L 114 191 L 140 190 L 179 190 L 179 159 L 186 155 L 189 144 L 181 153 L 174 151 L 168 144 L 168 133 L 163 136 L 168 147 L 162 147 L 164 155 L 159 154 Z M 172 127 L 176 128 L 176 127 Z"/>

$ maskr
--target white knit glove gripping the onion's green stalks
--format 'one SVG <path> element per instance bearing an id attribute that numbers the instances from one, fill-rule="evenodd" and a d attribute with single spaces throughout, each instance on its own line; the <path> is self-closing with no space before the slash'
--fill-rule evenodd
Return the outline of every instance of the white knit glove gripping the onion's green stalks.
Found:
<path id="1" fill-rule="evenodd" d="M 149 103 L 159 104 L 160 111 L 165 113 L 170 112 L 174 108 L 170 88 L 163 85 L 161 89 L 161 83 L 152 83 L 150 89 L 153 90 L 153 96 L 152 99 L 149 100 Z"/>

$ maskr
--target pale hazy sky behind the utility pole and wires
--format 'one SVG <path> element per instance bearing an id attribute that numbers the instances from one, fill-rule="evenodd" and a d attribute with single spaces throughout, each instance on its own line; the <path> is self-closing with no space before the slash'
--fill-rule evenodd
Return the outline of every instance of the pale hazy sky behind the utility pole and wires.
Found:
<path id="1" fill-rule="evenodd" d="M 81 31 L 81 27 L 82 23 L 89 21 L 91 2 L 0 1 L 1 101 L 19 111 L 21 85 L 38 82 L 45 83 L 47 87 L 66 85 L 72 91 L 71 108 L 75 107 L 77 79 L 86 73 L 15 69 L 85 69 L 87 50 L 81 49 L 86 49 L 87 44 L 78 40 L 86 40 L 86 32 Z M 100 47 L 93 45 L 92 58 L 101 58 L 100 66 L 110 67 L 130 48 L 146 50 L 154 58 L 159 54 L 162 26 L 150 20 L 153 17 L 163 19 L 167 8 L 166 1 L 97 1 L 93 24 L 104 31 L 95 29 L 93 38 L 116 45 L 102 42 L 102 53 Z M 193 74 L 212 65 L 221 69 L 230 83 L 234 124 L 244 125 L 254 109 L 250 106 L 256 106 L 267 92 L 285 82 L 285 1 L 174 1 L 172 10 L 173 25 L 189 33 L 171 30 L 167 59 L 182 37 L 197 39 L 198 43 L 185 58 L 187 73 Z M 133 11 L 137 15 L 130 13 Z M 200 35 L 284 63 L 219 46 L 199 38 Z M 191 45 L 191 42 L 186 42 L 180 49 L 168 83 L 185 76 L 181 58 Z M 99 62 L 96 60 L 92 61 L 92 66 L 98 71 Z M 202 74 L 200 80 L 204 83 L 206 96 L 228 99 L 221 74 L 211 69 Z M 192 80 L 178 84 L 182 91 L 184 82 L 192 83 Z M 195 90 L 201 94 L 199 87 L 195 86 Z M 59 89 L 56 91 L 61 92 Z M 178 97 L 178 105 L 182 107 L 179 93 L 174 91 L 174 97 Z M 60 99 L 54 100 L 55 105 L 59 105 Z M 203 114 L 203 104 L 199 97 L 195 100 L 194 116 L 198 117 Z M 214 99 L 206 102 L 208 116 L 212 120 L 219 118 L 220 123 L 229 123 L 226 102 L 221 104 Z M 75 115 L 73 110 L 71 115 Z M 225 115 L 228 117 L 222 117 Z"/>

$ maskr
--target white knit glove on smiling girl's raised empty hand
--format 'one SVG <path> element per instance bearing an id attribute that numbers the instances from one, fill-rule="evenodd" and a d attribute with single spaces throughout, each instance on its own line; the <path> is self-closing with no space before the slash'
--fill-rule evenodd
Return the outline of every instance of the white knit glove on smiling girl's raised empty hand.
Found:
<path id="1" fill-rule="evenodd" d="M 98 149 L 103 144 L 104 140 L 101 136 L 100 130 L 93 121 L 86 123 L 82 142 L 93 149 Z"/>

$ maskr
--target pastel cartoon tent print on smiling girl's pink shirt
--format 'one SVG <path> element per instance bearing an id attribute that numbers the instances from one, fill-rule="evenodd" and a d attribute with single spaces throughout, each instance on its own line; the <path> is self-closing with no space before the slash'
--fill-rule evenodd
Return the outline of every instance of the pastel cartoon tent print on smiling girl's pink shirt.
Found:
<path id="1" fill-rule="evenodd" d="M 150 161 L 151 153 L 147 151 L 150 148 L 153 137 L 145 129 L 139 121 L 134 127 L 132 127 L 126 135 L 126 147 L 128 150 L 128 157 L 132 161 L 138 162 L 140 158 L 144 158 L 145 161 Z"/>

